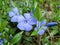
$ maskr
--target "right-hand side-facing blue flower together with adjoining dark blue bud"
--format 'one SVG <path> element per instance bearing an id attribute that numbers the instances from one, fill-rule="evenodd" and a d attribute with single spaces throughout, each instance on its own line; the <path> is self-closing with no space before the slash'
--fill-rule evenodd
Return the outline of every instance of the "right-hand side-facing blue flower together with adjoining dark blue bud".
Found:
<path id="1" fill-rule="evenodd" d="M 35 27 L 35 30 L 38 31 L 39 35 L 43 35 L 48 27 L 52 27 L 52 26 L 55 26 L 57 24 L 58 24 L 57 22 L 49 22 L 49 23 L 47 23 L 47 20 L 43 20 L 41 22 L 37 21 L 37 25 Z"/>

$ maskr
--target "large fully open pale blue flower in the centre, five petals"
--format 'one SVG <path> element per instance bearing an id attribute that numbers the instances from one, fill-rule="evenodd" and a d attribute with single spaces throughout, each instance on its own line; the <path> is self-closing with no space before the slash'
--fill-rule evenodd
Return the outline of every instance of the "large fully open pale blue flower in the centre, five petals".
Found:
<path id="1" fill-rule="evenodd" d="M 20 20 L 21 19 L 21 20 Z M 24 13 L 24 17 L 20 16 L 18 17 L 18 25 L 17 27 L 20 30 L 30 31 L 32 30 L 32 25 L 35 25 L 37 23 L 37 20 L 33 18 L 30 13 Z"/>

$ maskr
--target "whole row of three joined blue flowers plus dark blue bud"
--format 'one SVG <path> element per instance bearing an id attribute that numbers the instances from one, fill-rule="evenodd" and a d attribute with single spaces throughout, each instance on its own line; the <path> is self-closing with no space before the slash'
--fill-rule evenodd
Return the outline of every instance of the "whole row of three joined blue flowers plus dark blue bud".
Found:
<path id="1" fill-rule="evenodd" d="M 47 23 L 46 20 L 39 22 L 33 16 L 31 13 L 24 13 L 24 15 L 19 14 L 17 7 L 13 8 L 12 12 L 9 12 L 11 22 L 17 22 L 17 27 L 27 32 L 32 30 L 33 25 L 36 25 L 35 30 L 38 31 L 39 35 L 43 35 L 48 27 L 57 25 L 57 22 Z"/>

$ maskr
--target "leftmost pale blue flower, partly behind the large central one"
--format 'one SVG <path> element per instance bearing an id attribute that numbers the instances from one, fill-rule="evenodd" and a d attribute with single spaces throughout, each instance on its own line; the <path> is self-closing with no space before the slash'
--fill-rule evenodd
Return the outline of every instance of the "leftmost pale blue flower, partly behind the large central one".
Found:
<path id="1" fill-rule="evenodd" d="M 11 22 L 17 22 L 17 18 L 19 16 L 18 8 L 13 8 L 13 11 L 9 12 L 9 17 L 11 17 Z"/>

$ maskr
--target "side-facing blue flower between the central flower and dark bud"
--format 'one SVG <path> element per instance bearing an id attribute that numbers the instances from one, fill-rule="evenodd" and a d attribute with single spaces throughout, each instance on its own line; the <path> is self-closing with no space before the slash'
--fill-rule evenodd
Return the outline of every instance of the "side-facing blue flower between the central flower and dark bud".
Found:
<path id="1" fill-rule="evenodd" d="M 47 26 L 45 26 L 46 23 L 47 23 L 46 20 L 43 20 L 41 22 L 37 21 L 37 25 L 35 27 L 35 30 L 38 31 L 39 35 L 43 35 L 45 33 L 45 31 L 47 29 Z"/>

